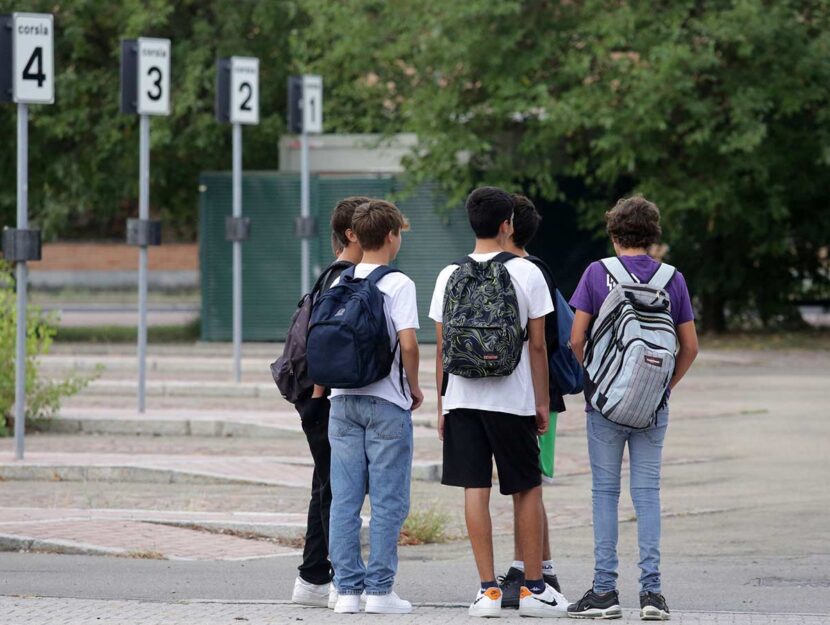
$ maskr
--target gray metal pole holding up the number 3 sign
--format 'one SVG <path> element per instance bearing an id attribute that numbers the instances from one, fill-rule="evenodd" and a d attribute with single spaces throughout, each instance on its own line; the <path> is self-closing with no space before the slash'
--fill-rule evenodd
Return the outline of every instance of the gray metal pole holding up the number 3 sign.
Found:
<path id="1" fill-rule="evenodd" d="M 150 218 L 150 118 L 139 116 L 138 218 Z M 138 248 L 138 411 L 144 412 L 147 384 L 147 245 Z"/>

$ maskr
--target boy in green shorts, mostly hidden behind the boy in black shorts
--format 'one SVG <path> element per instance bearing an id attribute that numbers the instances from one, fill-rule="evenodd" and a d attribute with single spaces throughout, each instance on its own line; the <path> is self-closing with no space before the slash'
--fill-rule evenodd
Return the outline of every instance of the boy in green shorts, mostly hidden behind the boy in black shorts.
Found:
<path id="1" fill-rule="evenodd" d="M 522 258 L 529 256 L 525 249 L 527 244 L 536 236 L 539 230 L 539 224 L 542 221 L 542 216 L 536 210 L 533 202 L 524 195 L 513 194 L 513 234 L 507 239 L 505 244 L 505 251 L 511 252 L 516 256 Z M 543 271 L 544 274 L 544 271 Z M 551 280 L 553 276 L 550 276 Z M 547 276 L 546 276 L 547 279 Z M 554 289 L 556 285 L 548 283 L 548 290 L 550 291 L 551 299 L 555 297 Z M 558 328 L 556 323 L 556 314 L 550 313 L 545 317 L 545 339 L 548 348 L 548 358 L 553 350 L 557 349 Z M 559 392 L 556 386 L 556 380 L 550 376 L 550 425 L 546 436 L 555 435 L 556 418 L 558 413 L 565 411 L 565 402 L 562 399 L 562 393 Z M 502 607 L 518 608 L 519 607 L 519 589 L 524 584 L 524 557 L 522 556 L 521 541 L 519 537 L 518 527 L 519 520 L 516 516 L 516 500 L 514 496 L 513 501 L 513 564 L 507 571 L 507 575 L 499 577 L 499 586 L 501 587 Z M 542 514 L 542 577 L 545 582 L 550 584 L 555 590 L 562 592 L 559 586 L 559 580 L 556 577 L 556 569 L 551 559 L 550 552 L 550 533 L 548 531 L 548 515 L 545 511 L 544 502 L 541 508 Z"/>

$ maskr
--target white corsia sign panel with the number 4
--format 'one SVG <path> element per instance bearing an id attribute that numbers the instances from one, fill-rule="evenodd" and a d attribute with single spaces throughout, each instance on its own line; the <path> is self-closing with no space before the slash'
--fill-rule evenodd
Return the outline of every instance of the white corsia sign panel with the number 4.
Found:
<path id="1" fill-rule="evenodd" d="M 12 38 L 14 101 L 51 104 L 55 101 L 52 16 L 14 13 Z"/>

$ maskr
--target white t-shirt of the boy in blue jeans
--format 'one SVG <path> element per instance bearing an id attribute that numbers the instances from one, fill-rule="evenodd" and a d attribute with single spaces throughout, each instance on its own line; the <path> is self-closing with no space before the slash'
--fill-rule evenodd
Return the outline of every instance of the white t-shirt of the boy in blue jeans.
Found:
<path id="1" fill-rule="evenodd" d="M 365 278 L 380 265 L 359 263 L 355 266 L 356 278 Z M 340 278 L 332 283 L 337 284 Z M 418 329 L 418 305 L 415 299 L 415 283 L 402 273 L 385 275 L 377 283 L 378 290 L 383 293 L 383 307 L 386 312 L 386 325 L 389 330 L 389 339 L 392 347 L 398 341 L 398 332 L 410 328 Z M 412 408 L 412 396 L 409 393 L 409 381 L 406 371 L 403 373 L 403 389 L 401 389 L 401 350 L 395 350 L 395 360 L 389 375 L 362 388 L 333 388 L 331 396 L 338 395 L 373 395 L 400 406 L 404 410 Z"/>

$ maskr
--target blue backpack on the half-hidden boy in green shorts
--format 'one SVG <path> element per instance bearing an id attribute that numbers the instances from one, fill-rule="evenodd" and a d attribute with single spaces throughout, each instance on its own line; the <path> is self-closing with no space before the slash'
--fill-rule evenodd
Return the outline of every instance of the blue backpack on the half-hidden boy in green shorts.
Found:
<path id="1" fill-rule="evenodd" d="M 571 328 L 574 323 L 574 313 L 571 310 L 568 300 L 562 295 L 562 292 L 556 286 L 553 279 L 553 273 L 550 267 L 540 258 L 536 256 L 526 256 L 534 265 L 542 270 L 545 276 L 545 281 L 550 287 L 551 293 L 555 293 L 554 308 L 556 309 L 551 319 L 551 324 L 545 323 L 545 336 L 548 340 L 548 368 L 550 369 L 550 377 L 553 379 L 559 391 L 563 395 L 575 395 L 582 392 L 583 386 L 583 371 L 582 365 L 574 356 L 568 343 L 571 339 Z M 553 327 L 555 323 L 556 327 Z"/>

